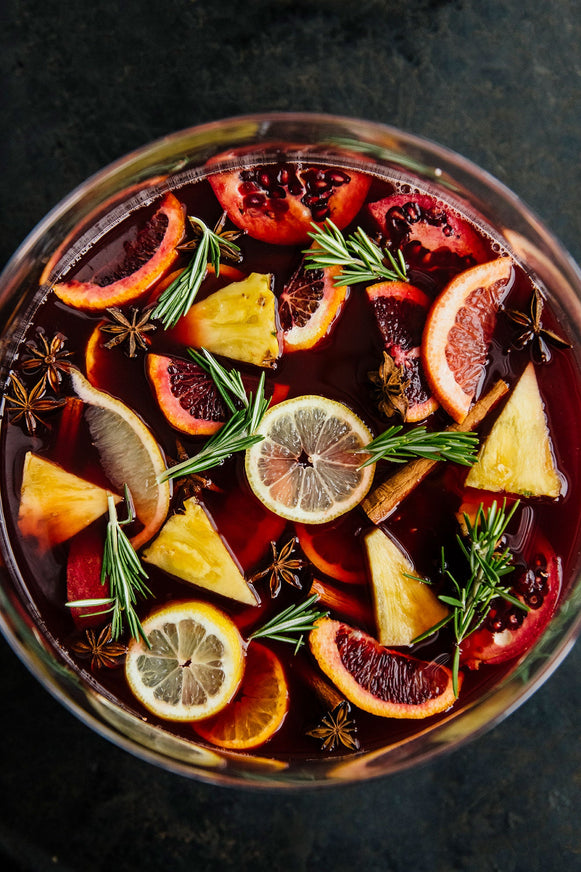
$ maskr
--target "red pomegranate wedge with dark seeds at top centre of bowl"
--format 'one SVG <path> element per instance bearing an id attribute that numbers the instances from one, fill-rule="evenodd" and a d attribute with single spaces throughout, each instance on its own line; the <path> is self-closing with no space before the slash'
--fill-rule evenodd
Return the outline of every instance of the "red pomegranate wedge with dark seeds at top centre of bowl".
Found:
<path id="1" fill-rule="evenodd" d="M 216 160 L 236 158 L 236 153 Z M 274 245 L 307 242 L 311 223 L 330 218 L 346 227 L 361 209 L 371 178 L 351 170 L 278 161 L 210 176 L 231 221 L 254 239 Z"/>

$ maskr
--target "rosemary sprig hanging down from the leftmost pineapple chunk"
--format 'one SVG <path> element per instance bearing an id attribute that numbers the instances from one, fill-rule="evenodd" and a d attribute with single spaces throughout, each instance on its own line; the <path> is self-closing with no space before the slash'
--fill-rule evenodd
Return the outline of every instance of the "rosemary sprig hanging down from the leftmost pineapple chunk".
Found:
<path id="1" fill-rule="evenodd" d="M 109 508 L 109 520 L 103 548 L 103 562 L 101 566 L 101 584 L 109 583 L 109 597 L 102 599 L 75 600 L 68 602 L 70 608 L 101 607 L 108 605 L 111 618 L 111 639 L 116 641 L 123 633 L 123 623 L 127 623 L 130 635 L 134 639 L 139 636 L 149 647 L 149 642 L 141 626 L 141 621 L 135 611 L 137 595 L 151 596 L 151 591 L 145 584 L 148 578 L 143 569 L 139 557 L 127 538 L 123 526 L 134 520 L 133 507 L 129 489 L 125 485 L 125 504 L 127 506 L 127 518 L 120 521 L 117 517 L 115 499 L 109 494 L 107 505 Z M 102 613 L 102 612 L 100 612 Z"/>

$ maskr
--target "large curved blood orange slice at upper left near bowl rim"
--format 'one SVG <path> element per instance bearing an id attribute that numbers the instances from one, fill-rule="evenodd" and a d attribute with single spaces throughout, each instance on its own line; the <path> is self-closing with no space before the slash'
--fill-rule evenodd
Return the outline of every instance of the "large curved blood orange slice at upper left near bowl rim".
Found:
<path id="1" fill-rule="evenodd" d="M 60 282 L 54 286 L 54 292 L 67 306 L 91 311 L 136 300 L 169 270 L 184 230 L 184 209 L 173 194 L 166 194 L 137 239 L 126 245 L 125 257 L 112 274 L 91 282 L 76 279 Z"/>

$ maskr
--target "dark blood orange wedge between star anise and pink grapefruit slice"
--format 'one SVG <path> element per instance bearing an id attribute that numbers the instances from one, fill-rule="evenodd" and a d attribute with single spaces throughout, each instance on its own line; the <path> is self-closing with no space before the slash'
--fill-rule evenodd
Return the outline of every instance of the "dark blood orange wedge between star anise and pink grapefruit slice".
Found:
<path id="1" fill-rule="evenodd" d="M 382 282 L 367 288 L 384 348 L 394 363 L 403 367 L 409 382 L 404 391 L 408 402 L 406 421 L 422 421 L 438 408 L 424 375 L 420 346 L 426 315 L 431 306 L 427 294 L 408 282 Z"/>

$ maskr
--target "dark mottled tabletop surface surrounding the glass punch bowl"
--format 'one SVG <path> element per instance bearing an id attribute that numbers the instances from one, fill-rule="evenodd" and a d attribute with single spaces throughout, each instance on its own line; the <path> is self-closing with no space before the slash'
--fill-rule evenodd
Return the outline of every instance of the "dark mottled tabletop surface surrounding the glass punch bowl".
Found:
<path id="1" fill-rule="evenodd" d="M 71 188 L 169 131 L 313 110 L 479 163 L 581 259 L 578 0 L 2 0 L 0 263 Z M 135 760 L 0 643 L 0 869 L 581 869 L 581 649 L 477 742 L 274 795 Z"/>

